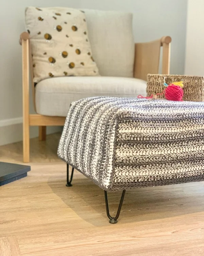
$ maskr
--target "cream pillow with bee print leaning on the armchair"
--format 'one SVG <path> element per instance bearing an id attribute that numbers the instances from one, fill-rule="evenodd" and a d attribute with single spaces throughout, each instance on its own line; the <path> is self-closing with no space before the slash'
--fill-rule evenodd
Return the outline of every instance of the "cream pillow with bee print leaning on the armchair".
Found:
<path id="1" fill-rule="evenodd" d="M 34 82 L 53 76 L 96 76 L 83 11 L 61 7 L 26 9 Z"/>

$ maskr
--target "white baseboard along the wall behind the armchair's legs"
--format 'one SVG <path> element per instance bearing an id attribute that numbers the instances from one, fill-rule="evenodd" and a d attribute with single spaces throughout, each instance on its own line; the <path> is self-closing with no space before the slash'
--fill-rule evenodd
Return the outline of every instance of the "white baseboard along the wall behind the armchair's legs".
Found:
<path id="1" fill-rule="evenodd" d="M 47 134 L 62 131 L 61 126 L 47 126 Z M 30 127 L 30 138 L 38 137 L 38 127 Z M 0 120 L 0 146 L 22 141 L 22 117 Z"/>

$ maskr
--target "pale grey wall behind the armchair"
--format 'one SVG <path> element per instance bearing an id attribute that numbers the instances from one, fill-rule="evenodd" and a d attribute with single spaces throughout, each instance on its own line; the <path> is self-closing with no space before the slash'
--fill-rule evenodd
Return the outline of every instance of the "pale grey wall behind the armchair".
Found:
<path id="1" fill-rule="evenodd" d="M 26 6 L 67 6 L 132 12 L 135 41 L 146 42 L 170 35 L 172 37 L 170 71 L 173 74 L 184 73 L 187 0 L 10 0 L 2 4 L 0 127 L 12 122 L 18 123 L 22 116 L 21 47 L 18 40 L 19 34 L 24 31 Z M 7 128 L 4 132 L 6 130 Z M 20 133 L 21 131 L 12 140 L 20 140 Z M 1 136 L 2 132 L 0 144 Z M 36 130 L 33 136 L 36 136 Z M 4 136 L 4 143 L 12 140 L 9 138 L 5 140 Z"/>

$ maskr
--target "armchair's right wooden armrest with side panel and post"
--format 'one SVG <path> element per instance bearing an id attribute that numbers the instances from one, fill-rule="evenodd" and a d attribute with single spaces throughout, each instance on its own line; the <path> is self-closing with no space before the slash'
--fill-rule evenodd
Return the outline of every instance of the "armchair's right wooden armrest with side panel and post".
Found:
<path id="1" fill-rule="evenodd" d="M 171 37 L 135 44 L 134 77 L 147 80 L 147 74 L 158 74 L 160 47 L 163 47 L 162 73 L 169 74 Z"/>

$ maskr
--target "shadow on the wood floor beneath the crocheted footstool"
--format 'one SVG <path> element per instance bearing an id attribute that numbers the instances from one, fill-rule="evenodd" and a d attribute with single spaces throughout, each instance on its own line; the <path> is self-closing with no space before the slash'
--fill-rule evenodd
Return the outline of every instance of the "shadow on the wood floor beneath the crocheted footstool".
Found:
<path id="1" fill-rule="evenodd" d="M 83 174 L 74 170 L 72 187 L 64 179 L 48 182 L 53 193 L 84 221 L 95 226 L 110 225 L 106 216 L 104 192 Z M 122 191 L 108 193 L 109 210 L 115 216 Z M 127 190 L 118 221 L 131 223 L 170 218 L 204 211 L 204 182 Z M 118 225 L 118 224 L 117 224 Z"/>

